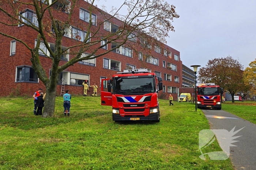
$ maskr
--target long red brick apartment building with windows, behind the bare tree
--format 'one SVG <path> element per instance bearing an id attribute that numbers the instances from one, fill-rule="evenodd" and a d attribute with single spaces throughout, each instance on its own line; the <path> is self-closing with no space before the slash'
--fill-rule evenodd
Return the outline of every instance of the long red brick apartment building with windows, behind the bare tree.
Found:
<path id="1" fill-rule="evenodd" d="M 74 9 L 73 16 L 80 18 L 81 22 L 86 25 L 87 21 L 83 20 L 83 17 L 79 17 L 79 13 L 88 13 L 86 10 L 88 9 L 88 4 L 86 1 L 79 1 L 78 3 L 79 7 Z M 24 7 L 23 10 L 25 10 L 23 12 L 27 12 L 27 14 L 33 13 L 32 9 L 26 7 Z M 68 16 L 65 12 L 56 12 L 54 15 L 60 19 L 67 18 Z M 93 27 L 98 28 L 97 23 L 99 21 L 102 22 L 103 17 L 101 17 L 101 13 L 98 11 L 95 11 L 92 16 L 95 19 Z M 109 25 L 100 25 L 100 31 L 102 33 L 114 31 L 114 29 L 118 29 L 120 22 L 121 21 L 117 21 L 116 23 L 111 22 Z M 86 29 L 86 27 L 84 27 L 84 29 Z M 31 48 L 35 47 L 37 32 L 29 27 L 25 27 L 24 25 L 8 27 L 0 24 L 0 30 L 5 30 L 5 33 L 24 40 Z M 54 48 L 55 39 L 48 37 L 48 41 L 50 47 Z M 76 42 L 79 42 L 79 40 L 72 38 L 71 33 L 67 31 L 63 37 L 63 48 L 74 45 Z M 8 96 L 14 92 L 19 93 L 19 95 L 26 94 L 32 96 L 38 88 L 42 88 L 43 92 L 45 92 L 44 84 L 38 79 L 38 76 L 31 67 L 30 51 L 22 43 L 2 35 L 0 35 L 0 45 L 0 96 Z M 105 49 L 102 48 L 99 52 L 113 47 L 115 47 L 115 43 L 108 44 L 104 47 Z M 113 74 L 123 71 L 124 69 L 148 68 L 151 72 L 155 72 L 158 76 L 163 78 L 163 90 L 158 93 L 158 96 L 167 99 L 169 94 L 172 94 L 174 100 L 177 100 L 178 90 L 182 87 L 182 61 L 180 60 L 180 52 L 166 44 L 162 44 L 161 48 L 152 46 L 151 51 L 151 57 L 144 58 L 142 53 L 137 55 L 132 49 L 120 47 L 102 57 L 75 63 L 74 66 L 68 67 L 60 73 L 57 95 L 60 95 L 61 92 L 60 81 L 62 78 L 65 79 L 65 89 L 69 89 L 71 94 L 82 95 L 83 80 L 87 80 L 89 86 L 96 83 L 98 87 L 100 87 L 101 79 L 110 78 Z M 46 50 L 45 53 L 47 54 L 47 52 Z M 67 60 L 70 60 L 72 57 L 74 56 L 63 56 L 60 64 L 67 62 Z M 50 75 L 52 60 L 45 57 L 43 53 L 39 59 L 42 66 L 48 68 L 45 69 L 46 74 Z M 101 90 L 99 89 L 98 94 L 100 94 L 100 92 Z"/>

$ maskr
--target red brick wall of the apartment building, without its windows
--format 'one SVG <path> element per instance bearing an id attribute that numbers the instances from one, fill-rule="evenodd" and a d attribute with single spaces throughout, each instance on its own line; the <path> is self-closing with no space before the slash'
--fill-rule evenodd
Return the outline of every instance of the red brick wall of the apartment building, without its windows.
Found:
<path id="1" fill-rule="evenodd" d="M 87 9 L 87 3 L 86 1 L 79 1 L 79 7 Z M 24 9 L 27 7 L 24 6 Z M 97 15 L 97 21 L 102 22 L 103 18 L 101 17 L 100 13 L 95 9 L 94 13 Z M 79 20 L 79 8 L 74 11 L 74 18 L 73 20 Z M 46 13 L 46 15 L 48 15 Z M 67 18 L 67 14 L 64 12 L 56 12 L 54 11 L 54 16 L 56 18 L 59 18 L 59 20 L 65 20 Z M 1 21 L 6 20 L 4 16 Z M 88 23 L 85 21 L 79 20 L 80 23 L 84 25 L 84 29 L 86 30 L 86 26 Z M 121 21 L 112 19 L 111 22 L 115 23 L 116 25 L 120 25 Z M 97 29 L 97 26 L 93 25 L 92 29 Z M 23 40 L 25 43 L 28 44 L 29 47 L 34 48 L 35 46 L 35 39 L 37 39 L 37 32 L 35 32 L 32 28 L 25 27 L 25 26 L 15 26 L 15 27 L 6 27 L 2 24 L 0 24 L 0 30 L 5 30 L 4 33 L 7 33 L 9 35 L 15 36 L 21 40 Z M 100 28 L 100 31 L 102 33 L 106 32 L 103 29 L 103 25 Z M 15 74 L 16 74 L 16 67 L 17 66 L 31 66 L 30 58 L 31 58 L 31 53 L 30 51 L 22 44 L 19 42 L 16 42 L 16 54 L 14 56 L 10 56 L 10 41 L 13 40 L 11 38 L 4 37 L 0 35 L 0 45 L 1 48 L 4 50 L 1 50 L 1 58 L 0 58 L 0 96 L 8 96 L 11 93 L 14 93 L 15 91 L 19 92 L 20 95 L 33 95 L 35 91 L 38 90 L 38 88 L 42 88 L 43 91 L 45 92 L 45 86 L 44 84 L 39 80 L 39 83 L 28 83 L 28 82 L 15 82 Z M 47 37 L 49 43 L 54 43 L 55 40 L 53 37 Z M 68 37 L 63 37 L 63 44 L 62 46 L 64 47 L 69 47 L 72 45 L 75 45 L 77 43 L 80 43 L 80 41 L 68 38 Z M 130 42 L 131 43 L 131 42 Z M 154 51 L 154 46 L 152 46 L 152 50 L 150 51 L 151 55 L 154 56 L 155 58 L 158 58 L 158 63 L 159 66 L 155 66 L 154 64 L 149 64 L 145 62 L 145 59 L 143 58 L 143 61 L 139 60 L 138 55 L 133 52 L 133 58 L 129 58 L 127 56 L 115 53 L 115 52 L 109 52 L 106 55 L 103 55 L 99 58 L 96 59 L 96 66 L 86 66 L 84 64 L 79 64 L 75 63 L 74 66 L 70 66 L 67 68 L 65 71 L 68 72 L 74 72 L 74 73 L 80 73 L 80 74 L 88 74 L 90 75 L 90 80 L 89 80 L 89 85 L 93 85 L 94 83 L 97 84 L 99 87 L 100 84 L 100 77 L 107 77 L 110 78 L 113 74 L 116 74 L 117 71 L 114 70 L 108 70 L 103 68 L 103 58 L 108 58 L 112 60 L 116 60 L 118 62 L 121 62 L 121 71 L 123 71 L 126 68 L 126 64 L 131 64 L 135 65 L 136 68 L 149 68 L 151 69 L 152 72 L 158 71 L 161 72 L 161 77 L 163 78 L 164 73 L 172 75 L 172 80 L 171 81 L 166 81 L 163 78 L 163 85 L 166 86 L 166 92 L 163 93 L 160 91 L 158 93 L 158 96 L 161 98 L 168 99 L 169 93 L 167 92 L 167 87 L 181 87 L 182 86 L 182 61 L 179 58 L 179 61 L 174 60 L 174 54 L 177 54 L 180 56 L 180 52 L 167 46 L 166 44 L 162 44 L 162 54 L 158 54 L 157 52 Z M 111 48 L 111 44 L 108 44 L 108 49 Z M 140 51 L 140 46 L 136 47 L 138 51 Z M 163 56 L 163 48 L 168 49 L 170 52 L 172 52 L 172 57 L 166 57 Z M 93 49 L 92 49 L 93 50 Z M 91 51 L 86 51 L 90 53 Z M 96 54 L 105 52 L 104 49 L 98 50 Z M 74 57 L 73 55 L 69 56 L 69 59 Z M 52 66 L 52 60 L 43 56 L 39 57 L 41 64 L 43 68 L 45 68 L 46 75 L 49 75 L 49 70 Z M 163 60 L 166 62 L 166 68 L 163 67 Z M 167 62 L 175 64 L 177 66 L 177 71 L 172 71 L 167 69 Z M 60 61 L 60 65 L 64 64 L 65 61 Z M 176 83 L 174 82 L 174 76 L 179 77 L 179 82 Z M 65 89 L 69 89 L 71 94 L 77 94 L 77 95 L 82 95 L 83 93 L 83 86 L 74 86 L 74 85 L 66 85 Z M 99 89 L 99 88 L 98 88 Z M 60 94 L 61 86 L 57 85 L 57 95 Z M 98 90 L 98 94 L 100 95 L 100 89 Z M 177 90 L 178 91 L 178 90 Z M 92 93 L 92 90 L 89 94 Z M 174 97 L 174 100 L 177 100 L 178 95 L 172 94 Z"/>

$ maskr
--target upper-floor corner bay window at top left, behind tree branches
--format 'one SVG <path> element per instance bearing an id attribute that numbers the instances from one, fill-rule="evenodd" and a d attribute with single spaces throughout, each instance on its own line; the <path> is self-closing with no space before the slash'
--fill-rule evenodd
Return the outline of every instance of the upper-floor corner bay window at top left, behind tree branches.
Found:
<path id="1" fill-rule="evenodd" d="M 20 12 L 20 19 L 28 24 L 28 25 L 35 25 L 36 27 L 38 27 L 38 21 L 37 21 L 37 15 L 34 13 L 34 11 L 31 11 L 29 9 L 26 9 L 23 12 Z M 19 24 L 19 26 L 22 26 L 24 24 Z"/>

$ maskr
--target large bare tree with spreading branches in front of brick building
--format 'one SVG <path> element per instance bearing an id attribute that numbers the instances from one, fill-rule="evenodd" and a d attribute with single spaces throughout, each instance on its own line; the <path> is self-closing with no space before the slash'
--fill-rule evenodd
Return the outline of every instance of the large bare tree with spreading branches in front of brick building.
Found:
<path id="1" fill-rule="evenodd" d="M 30 51 L 31 65 L 46 87 L 44 117 L 54 114 L 57 79 L 61 71 L 79 61 L 98 58 L 112 50 L 118 50 L 121 46 L 132 48 L 136 52 L 137 47 L 141 47 L 136 44 L 144 44 L 144 50 L 147 50 L 148 42 L 166 43 L 168 32 L 174 31 L 172 21 L 179 17 L 175 7 L 162 0 L 125 0 L 120 8 L 112 10 L 111 15 L 95 7 L 94 3 L 95 0 L 0 1 L 0 35 L 19 41 Z M 85 6 L 86 13 L 79 11 L 81 4 Z M 119 14 L 125 7 L 127 14 Z M 58 17 L 61 12 L 68 15 Z M 103 18 L 97 20 L 97 27 L 94 14 L 97 14 L 97 18 Z M 81 20 L 87 23 L 84 24 Z M 103 25 L 111 23 L 118 23 L 119 27 L 102 33 Z M 21 25 L 37 33 L 34 48 L 30 47 L 25 38 L 14 36 L 8 31 Z M 74 42 L 71 46 L 63 48 L 64 36 L 72 37 Z M 55 44 L 54 48 L 51 48 L 49 42 L 53 40 Z M 109 43 L 116 43 L 116 46 L 99 52 L 99 49 Z M 87 55 L 84 55 L 84 52 Z M 45 72 L 46 68 L 40 62 L 39 53 L 52 60 L 49 78 Z M 61 65 L 61 58 L 67 54 L 70 56 L 68 62 Z"/>

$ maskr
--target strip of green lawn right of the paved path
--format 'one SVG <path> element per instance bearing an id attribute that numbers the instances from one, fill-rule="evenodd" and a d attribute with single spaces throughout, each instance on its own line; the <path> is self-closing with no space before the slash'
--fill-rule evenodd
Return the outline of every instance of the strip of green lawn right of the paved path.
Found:
<path id="1" fill-rule="evenodd" d="M 222 110 L 256 124 L 256 102 L 225 102 Z"/>

